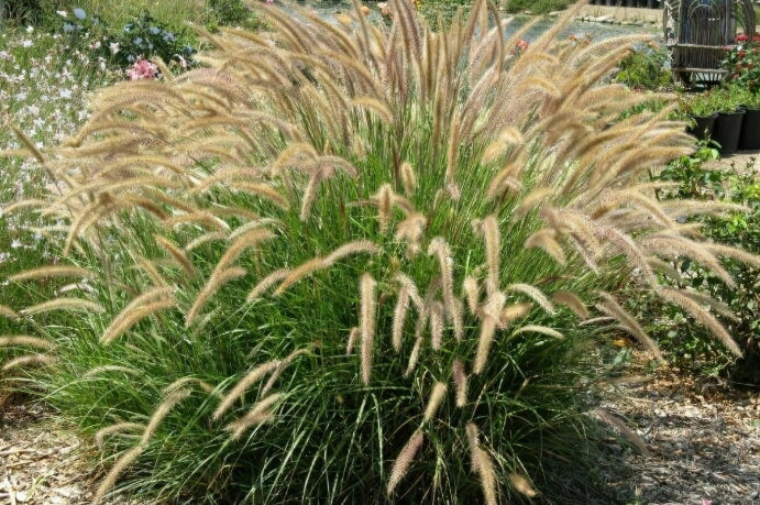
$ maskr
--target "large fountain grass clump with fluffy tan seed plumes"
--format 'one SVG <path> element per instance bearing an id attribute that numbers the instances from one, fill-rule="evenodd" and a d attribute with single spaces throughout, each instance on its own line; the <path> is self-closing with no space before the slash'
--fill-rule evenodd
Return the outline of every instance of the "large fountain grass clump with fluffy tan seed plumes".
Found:
<path id="1" fill-rule="evenodd" d="M 646 175 L 691 140 L 668 110 L 617 121 L 643 99 L 605 84 L 636 39 L 575 47 L 571 11 L 518 55 L 528 28 L 504 40 L 492 3 L 437 30 L 392 11 L 261 6 L 271 33 L 207 34 L 207 67 L 106 89 L 36 151 L 80 275 L 33 307 L 68 315 L 49 345 L 5 342 L 55 360 L 29 373 L 98 440 L 98 498 L 571 493 L 592 338 L 614 320 L 661 358 L 613 292 L 660 293 L 675 256 L 757 262 L 656 199 Z M 662 293 L 739 353 L 702 296 Z"/>

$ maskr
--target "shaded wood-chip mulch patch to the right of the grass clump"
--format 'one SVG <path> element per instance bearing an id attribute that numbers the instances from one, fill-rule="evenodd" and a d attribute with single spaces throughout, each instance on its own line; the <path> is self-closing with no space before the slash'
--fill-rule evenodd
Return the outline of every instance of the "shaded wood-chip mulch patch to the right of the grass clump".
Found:
<path id="1" fill-rule="evenodd" d="M 760 504 L 758 389 L 663 371 L 605 396 L 602 408 L 649 452 L 619 448 L 623 466 L 606 475 L 613 487 L 646 504 Z"/>

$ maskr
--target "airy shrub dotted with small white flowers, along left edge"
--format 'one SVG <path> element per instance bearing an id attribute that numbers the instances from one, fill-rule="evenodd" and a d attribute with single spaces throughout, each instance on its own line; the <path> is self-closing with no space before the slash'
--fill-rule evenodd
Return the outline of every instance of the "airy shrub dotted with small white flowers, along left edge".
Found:
<path id="1" fill-rule="evenodd" d="M 113 80 L 104 62 L 86 52 L 71 51 L 59 57 L 60 35 L 43 30 L 0 32 L 0 103 L 3 124 L 14 124 L 38 147 L 49 147 L 73 135 L 89 117 L 87 97 L 93 88 Z M 0 129 L 0 151 L 13 151 L 22 143 L 10 128 Z M 10 212 L 21 200 L 38 198 L 55 185 L 31 156 L 0 160 L 0 305 L 30 304 L 53 286 L 40 283 L 33 290 L 21 289 L 5 279 L 20 270 L 54 261 L 56 249 L 41 229 L 49 222 L 31 212 Z M 25 333 L 29 321 L 0 317 L 0 334 Z M 12 350 L 8 351 L 15 355 Z M 3 349 L 0 349 L 0 359 Z M 4 378 L 4 377 L 3 377 Z M 0 397 L 8 385 L 0 381 Z M 0 400 L 0 410 L 2 402 Z"/>

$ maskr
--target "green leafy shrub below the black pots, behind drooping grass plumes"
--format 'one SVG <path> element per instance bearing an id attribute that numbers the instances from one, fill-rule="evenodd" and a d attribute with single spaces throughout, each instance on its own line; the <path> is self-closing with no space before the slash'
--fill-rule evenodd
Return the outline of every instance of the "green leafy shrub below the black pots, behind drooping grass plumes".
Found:
<path id="1" fill-rule="evenodd" d="M 704 168 L 703 162 L 717 158 L 717 151 L 702 146 L 692 156 L 674 161 L 656 180 L 678 184 L 663 191 L 663 198 L 722 200 L 746 206 L 722 216 L 694 218 L 700 231 L 711 241 L 727 243 L 760 254 L 760 183 L 751 171 L 735 168 Z M 661 308 L 646 298 L 640 316 L 647 320 L 650 332 L 681 366 L 708 373 L 726 373 L 739 383 L 760 383 L 760 285 L 758 267 L 729 260 L 724 264 L 731 283 L 714 272 L 682 257 L 673 264 L 668 281 L 673 285 L 709 294 L 717 300 L 713 310 L 720 322 L 737 340 L 745 355 L 736 356 L 716 347 L 709 333 L 696 328 L 693 319 L 678 308 Z M 639 303 L 642 299 L 638 300 Z M 647 318 L 656 314 L 657 318 Z"/>

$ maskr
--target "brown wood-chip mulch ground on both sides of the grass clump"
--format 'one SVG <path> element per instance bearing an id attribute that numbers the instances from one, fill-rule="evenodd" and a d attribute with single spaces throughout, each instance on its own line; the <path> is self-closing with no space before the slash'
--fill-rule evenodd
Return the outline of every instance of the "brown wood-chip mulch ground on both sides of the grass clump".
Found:
<path id="1" fill-rule="evenodd" d="M 607 483 L 623 504 L 760 504 L 760 392 L 663 371 L 609 385 L 601 408 L 646 444 L 610 439 Z M 35 404 L 0 416 L 0 504 L 90 503 L 87 444 Z M 636 494 L 634 496 L 634 493 Z M 638 502 L 636 502 L 638 501 Z"/>

